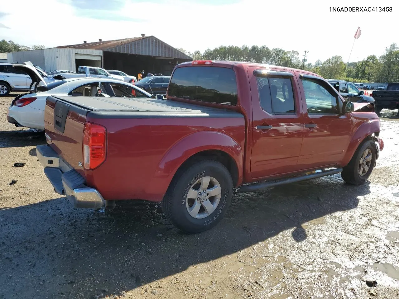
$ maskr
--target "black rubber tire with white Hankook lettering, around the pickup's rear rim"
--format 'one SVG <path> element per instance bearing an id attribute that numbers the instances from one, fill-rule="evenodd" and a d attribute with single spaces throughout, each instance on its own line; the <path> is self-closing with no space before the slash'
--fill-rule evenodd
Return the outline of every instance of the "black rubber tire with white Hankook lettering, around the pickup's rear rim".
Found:
<path id="1" fill-rule="evenodd" d="M 193 205 L 195 204 L 195 199 L 187 199 L 188 190 L 193 184 L 196 186 L 195 183 L 203 177 L 216 179 L 220 184 L 221 195 L 213 212 L 204 218 L 194 218 L 186 207 L 186 205 L 190 206 L 190 201 L 194 201 Z M 233 181 L 229 171 L 222 163 L 214 160 L 199 161 L 176 173 L 162 200 L 162 210 L 166 218 L 180 230 L 187 233 L 203 232 L 215 226 L 223 218 L 230 206 L 232 193 Z M 209 197 L 209 202 L 214 200 L 214 197 Z M 203 209 L 203 211 L 205 210 Z"/>

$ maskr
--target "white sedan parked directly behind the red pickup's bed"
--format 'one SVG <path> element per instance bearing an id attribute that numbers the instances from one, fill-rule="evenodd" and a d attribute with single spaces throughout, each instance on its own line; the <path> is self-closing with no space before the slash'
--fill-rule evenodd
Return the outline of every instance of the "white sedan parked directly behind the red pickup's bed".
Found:
<path id="1" fill-rule="evenodd" d="M 32 81 L 43 81 L 36 78 Z M 44 130 L 44 108 L 47 96 L 144 97 L 152 94 L 130 83 L 105 78 L 70 78 L 38 86 L 34 93 L 18 95 L 8 108 L 7 120 L 17 127 Z"/>

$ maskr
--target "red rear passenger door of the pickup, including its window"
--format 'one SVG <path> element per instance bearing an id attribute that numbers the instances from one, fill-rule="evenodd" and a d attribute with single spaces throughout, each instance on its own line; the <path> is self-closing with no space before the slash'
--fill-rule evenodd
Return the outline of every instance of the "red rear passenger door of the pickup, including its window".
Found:
<path id="1" fill-rule="evenodd" d="M 252 95 L 251 176 L 297 171 L 303 116 L 293 74 L 248 68 Z"/>

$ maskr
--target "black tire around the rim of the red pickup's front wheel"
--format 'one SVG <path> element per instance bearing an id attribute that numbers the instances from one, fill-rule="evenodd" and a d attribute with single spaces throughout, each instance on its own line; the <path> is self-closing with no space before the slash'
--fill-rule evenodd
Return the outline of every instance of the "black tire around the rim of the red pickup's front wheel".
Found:
<path id="1" fill-rule="evenodd" d="M 371 151 L 371 163 L 368 167 L 368 170 L 365 174 L 360 175 L 360 160 L 362 159 L 363 153 L 369 149 Z M 367 139 L 365 140 L 358 149 L 356 150 L 355 154 L 353 155 L 352 159 L 350 160 L 349 164 L 344 167 L 341 172 L 342 179 L 352 185 L 361 185 L 369 178 L 371 172 L 373 171 L 375 165 L 375 159 L 377 158 L 377 148 L 374 144 L 373 140 Z"/>

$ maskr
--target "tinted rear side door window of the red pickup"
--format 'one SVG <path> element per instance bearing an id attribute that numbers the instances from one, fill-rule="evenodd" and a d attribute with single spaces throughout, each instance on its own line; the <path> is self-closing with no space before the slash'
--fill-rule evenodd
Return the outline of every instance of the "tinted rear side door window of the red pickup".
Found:
<path id="1" fill-rule="evenodd" d="M 295 113 L 294 94 L 288 78 L 257 77 L 259 100 L 269 113 Z"/>

